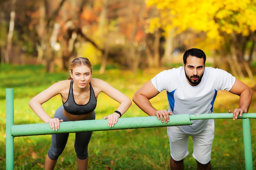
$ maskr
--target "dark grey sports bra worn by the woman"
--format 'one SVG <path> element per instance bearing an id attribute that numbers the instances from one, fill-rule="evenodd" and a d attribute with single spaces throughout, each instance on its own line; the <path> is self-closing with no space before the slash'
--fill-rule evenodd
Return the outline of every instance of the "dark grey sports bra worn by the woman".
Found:
<path id="1" fill-rule="evenodd" d="M 72 115 L 85 115 L 88 113 L 91 113 L 97 105 L 97 99 L 94 95 L 94 91 L 92 88 L 91 83 L 90 84 L 90 99 L 89 102 L 85 105 L 79 105 L 76 104 L 74 100 L 74 95 L 73 95 L 73 80 L 70 82 L 70 92 L 67 97 L 67 101 L 63 103 L 64 109 L 67 111 L 67 113 L 70 113 Z"/>

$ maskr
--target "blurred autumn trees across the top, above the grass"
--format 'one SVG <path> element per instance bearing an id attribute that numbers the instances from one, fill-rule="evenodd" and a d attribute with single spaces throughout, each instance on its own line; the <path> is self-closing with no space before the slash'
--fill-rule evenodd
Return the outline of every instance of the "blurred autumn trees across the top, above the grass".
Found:
<path id="1" fill-rule="evenodd" d="M 256 0 L 1 0 L 0 62 L 54 72 L 82 56 L 136 74 L 200 48 L 255 85 L 255 18 Z"/>

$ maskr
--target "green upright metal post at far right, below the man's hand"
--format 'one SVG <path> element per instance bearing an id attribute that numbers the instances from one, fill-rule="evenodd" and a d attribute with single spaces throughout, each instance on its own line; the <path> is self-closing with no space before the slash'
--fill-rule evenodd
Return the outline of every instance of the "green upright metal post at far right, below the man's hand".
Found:
<path id="1" fill-rule="evenodd" d="M 243 119 L 243 137 L 244 137 L 244 150 L 245 150 L 245 169 L 252 170 L 252 138 L 250 119 Z"/>

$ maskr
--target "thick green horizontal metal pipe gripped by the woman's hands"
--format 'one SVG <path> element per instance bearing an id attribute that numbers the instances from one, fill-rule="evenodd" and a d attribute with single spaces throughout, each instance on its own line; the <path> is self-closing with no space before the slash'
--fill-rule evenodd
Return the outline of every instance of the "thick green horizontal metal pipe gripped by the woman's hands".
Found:
<path id="1" fill-rule="evenodd" d="M 60 123 L 60 129 L 53 131 L 48 123 L 44 124 L 24 124 L 13 125 L 11 133 L 13 137 L 31 136 L 31 135 L 49 135 L 56 133 L 68 132 L 87 132 L 87 131 L 100 131 L 100 130 L 119 130 L 119 129 L 134 129 L 134 128 L 153 128 L 164 126 L 180 126 L 192 125 L 189 115 L 173 115 L 170 121 L 162 123 L 156 116 L 147 117 L 125 117 L 120 118 L 114 127 L 108 127 L 108 120 L 80 120 L 80 121 L 65 121 Z"/>

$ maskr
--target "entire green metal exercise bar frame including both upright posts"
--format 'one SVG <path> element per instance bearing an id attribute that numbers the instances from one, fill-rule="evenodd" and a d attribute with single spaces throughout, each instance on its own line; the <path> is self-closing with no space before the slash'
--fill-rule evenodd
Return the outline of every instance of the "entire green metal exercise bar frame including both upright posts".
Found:
<path id="1" fill-rule="evenodd" d="M 170 115 L 168 123 L 161 123 L 157 117 L 128 117 L 118 120 L 114 127 L 107 126 L 108 120 L 83 120 L 61 122 L 60 129 L 53 131 L 49 124 L 25 124 L 14 125 L 13 88 L 6 89 L 6 170 L 13 170 L 14 167 L 14 137 L 30 135 L 49 135 L 67 132 L 86 132 L 99 130 L 118 130 L 132 128 L 152 128 L 164 126 L 192 125 L 191 120 L 197 119 L 229 119 L 233 118 L 231 113 L 214 113 L 202 115 Z M 243 134 L 245 147 L 246 170 L 252 170 L 252 143 L 249 118 L 256 118 L 256 113 L 244 113 L 238 116 L 243 119 Z"/>

